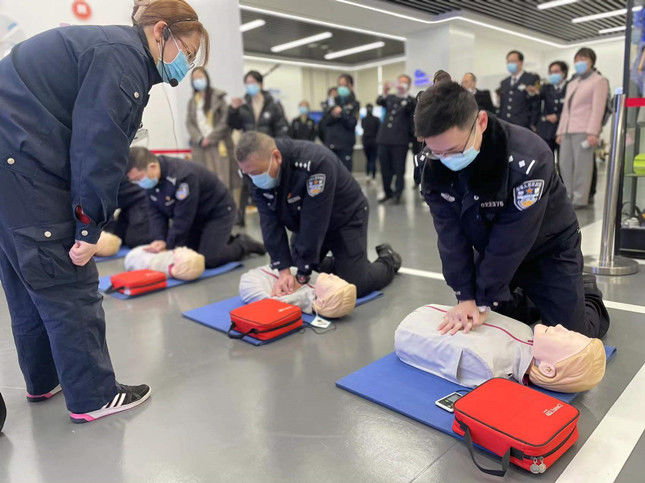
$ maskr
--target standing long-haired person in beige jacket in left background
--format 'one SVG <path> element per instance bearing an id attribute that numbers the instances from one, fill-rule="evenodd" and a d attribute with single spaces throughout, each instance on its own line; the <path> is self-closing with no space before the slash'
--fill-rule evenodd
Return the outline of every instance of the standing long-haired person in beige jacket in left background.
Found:
<path id="1" fill-rule="evenodd" d="M 231 159 L 234 144 L 226 123 L 226 92 L 211 87 L 208 73 L 202 68 L 193 70 L 191 81 L 194 95 L 188 102 L 186 126 L 193 160 L 204 164 L 234 191 L 240 188 L 241 178 L 235 160 Z"/>

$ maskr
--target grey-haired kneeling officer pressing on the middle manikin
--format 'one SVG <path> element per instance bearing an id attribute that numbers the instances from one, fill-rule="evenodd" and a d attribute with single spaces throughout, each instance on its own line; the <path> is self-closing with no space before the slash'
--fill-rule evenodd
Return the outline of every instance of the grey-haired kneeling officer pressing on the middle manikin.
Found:
<path id="1" fill-rule="evenodd" d="M 378 259 L 368 260 L 367 199 L 332 152 L 307 141 L 249 132 L 235 154 L 253 180 L 264 243 L 272 267 L 280 271 L 274 295 L 306 284 L 313 270 L 356 285 L 358 297 L 392 281 L 401 257 L 383 244 L 376 247 Z M 291 248 L 287 230 L 293 233 Z M 295 278 L 292 266 L 298 269 Z"/>

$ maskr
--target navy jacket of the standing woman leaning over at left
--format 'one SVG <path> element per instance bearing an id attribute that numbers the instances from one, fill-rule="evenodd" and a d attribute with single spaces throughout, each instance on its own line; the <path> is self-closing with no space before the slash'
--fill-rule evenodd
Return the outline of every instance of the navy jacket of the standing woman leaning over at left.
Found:
<path id="1" fill-rule="evenodd" d="M 68 206 L 52 201 L 46 215 L 75 222 L 77 240 L 96 243 L 116 209 L 148 92 L 161 82 L 144 41 L 133 27 L 62 27 L 0 61 L 0 164 L 70 191 Z"/>

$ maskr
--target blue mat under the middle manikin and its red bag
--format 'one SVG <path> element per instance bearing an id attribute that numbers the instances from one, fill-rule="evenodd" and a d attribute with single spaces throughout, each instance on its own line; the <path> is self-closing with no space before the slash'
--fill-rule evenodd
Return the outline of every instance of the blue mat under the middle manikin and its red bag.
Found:
<path id="1" fill-rule="evenodd" d="M 357 299 L 356 306 L 358 307 L 359 305 L 370 302 L 371 300 L 374 300 L 381 295 L 383 295 L 383 292 L 372 292 L 365 297 Z M 244 302 L 242 302 L 242 299 L 240 297 L 232 297 L 230 299 L 221 300 L 219 302 L 205 305 L 204 307 L 189 310 L 188 312 L 184 312 L 182 315 L 187 319 L 192 320 L 193 322 L 197 322 L 198 324 L 205 325 L 206 327 L 210 327 L 211 329 L 226 333 L 231 326 L 231 310 L 237 309 L 242 305 L 244 305 Z M 305 324 L 309 324 L 314 319 L 314 317 L 314 315 L 302 314 L 302 321 Z M 298 332 L 300 329 L 301 327 L 298 327 L 291 332 L 286 332 L 280 337 L 276 337 L 275 339 L 271 340 L 258 340 L 254 337 L 249 336 L 244 337 L 242 340 L 256 346 L 264 345 L 270 342 L 275 342 L 276 340 L 280 340 L 283 337 L 293 334 L 294 332 Z M 233 331 L 232 333 L 236 335 L 239 334 L 239 332 L 237 331 Z"/>

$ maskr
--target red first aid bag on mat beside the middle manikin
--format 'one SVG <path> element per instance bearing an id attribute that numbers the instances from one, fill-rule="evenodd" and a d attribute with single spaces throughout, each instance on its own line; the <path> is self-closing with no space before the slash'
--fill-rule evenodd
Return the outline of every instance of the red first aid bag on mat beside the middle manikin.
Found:
<path id="1" fill-rule="evenodd" d="M 275 299 L 263 299 L 232 310 L 227 335 L 231 339 L 248 335 L 259 340 L 271 340 L 298 327 L 302 327 L 300 307 Z M 239 334 L 233 334 L 234 330 Z"/>

